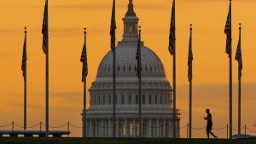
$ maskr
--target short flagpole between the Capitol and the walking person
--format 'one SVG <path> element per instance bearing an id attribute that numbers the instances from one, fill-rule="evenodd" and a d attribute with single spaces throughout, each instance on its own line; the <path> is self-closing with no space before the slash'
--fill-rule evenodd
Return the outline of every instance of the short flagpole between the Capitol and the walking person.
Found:
<path id="1" fill-rule="evenodd" d="M 192 47 L 192 24 L 190 24 L 189 47 Z M 191 44 L 191 45 L 190 45 Z M 191 48 L 189 48 L 190 50 Z M 191 49 L 192 50 L 192 49 Z M 189 51 L 190 52 L 190 51 Z M 189 53 L 189 56 L 190 53 Z M 189 60 L 189 138 L 192 137 L 192 60 Z"/>

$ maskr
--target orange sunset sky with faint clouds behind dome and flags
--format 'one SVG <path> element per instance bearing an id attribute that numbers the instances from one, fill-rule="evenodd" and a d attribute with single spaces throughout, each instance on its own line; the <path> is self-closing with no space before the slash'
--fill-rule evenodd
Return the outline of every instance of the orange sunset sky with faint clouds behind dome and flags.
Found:
<path id="1" fill-rule="evenodd" d="M 172 0 L 134 0 L 135 11 L 142 26 L 142 39 L 162 60 L 166 77 L 172 84 L 172 56 L 169 54 L 168 34 Z M 177 108 L 182 112 L 181 126 L 188 123 L 189 83 L 187 58 L 189 24 L 193 24 L 194 98 L 193 124 L 202 127 L 205 108 L 212 109 L 217 128 L 228 123 L 229 61 L 225 54 L 224 25 L 228 0 L 177 0 Z M 116 1 L 117 40 L 122 37 L 123 21 L 128 0 Z M 256 120 L 256 15 L 254 0 L 232 1 L 234 129 L 237 129 L 237 62 L 234 60 L 238 40 L 238 23 L 242 23 L 242 124 L 254 130 Z M 84 43 L 83 28 L 88 29 L 87 54 L 89 75 L 87 88 L 96 78 L 97 66 L 109 48 L 109 26 L 112 0 L 49 0 L 49 124 L 69 121 L 81 125 L 83 100 L 81 63 Z M 20 69 L 27 26 L 27 124 L 44 122 L 45 55 L 42 49 L 44 0 L 2 0 L 0 5 L 0 126 L 15 120 L 23 123 L 23 78 Z M 213 125 L 214 127 L 214 125 Z M 1 128 L 3 129 L 10 129 Z M 64 128 L 66 129 L 66 128 Z M 216 130 L 226 137 L 225 130 Z M 236 133 L 236 130 L 233 132 Z M 72 136 L 81 130 L 72 128 Z M 254 134 L 256 135 L 256 134 Z M 185 137 L 185 130 L 181 130 Z M 194 137 L 205 137 L 204 130 L 194 130 Z"/>

